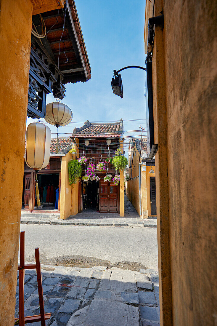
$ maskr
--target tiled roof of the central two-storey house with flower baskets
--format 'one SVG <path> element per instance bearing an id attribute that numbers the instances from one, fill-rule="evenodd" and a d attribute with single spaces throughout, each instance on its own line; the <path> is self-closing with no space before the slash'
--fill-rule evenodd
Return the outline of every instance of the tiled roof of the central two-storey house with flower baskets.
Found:
<path id="1" fill-rule="evenodd" d="M 123 133 L 123 120 L 119 123 L 96 124 L 87 120 L 80 128 L 74 128 L 73 138 L 120 137 Z"/>

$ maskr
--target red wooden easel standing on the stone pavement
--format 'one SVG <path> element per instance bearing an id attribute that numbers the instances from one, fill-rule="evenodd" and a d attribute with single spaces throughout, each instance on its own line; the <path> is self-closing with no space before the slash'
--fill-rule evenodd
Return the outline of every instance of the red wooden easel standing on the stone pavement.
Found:
<path id="1" fill-rule="evenodd" d="M 45 314 L 44 312 L 44 298 L 42 290 L 42 278 L 41 278 L 41 264 L 39 248 L 35 249 L 35 264 L 25 265 L 25 231 L 20 233 L 20 264 L 18 264 L 19 270 L 19 318 L 15 318 L 15 325 L 24 326 L 24 324 L 40 321 L 42 326 L 45 325 L 45 320 L 51 318 L 51 313 Z M 38 283 L 38 297 L 39 297 L 39 307 L 40 315 L 24 317 L 24 270 L 25 269 L 35 269 L 37 274 Z"/>

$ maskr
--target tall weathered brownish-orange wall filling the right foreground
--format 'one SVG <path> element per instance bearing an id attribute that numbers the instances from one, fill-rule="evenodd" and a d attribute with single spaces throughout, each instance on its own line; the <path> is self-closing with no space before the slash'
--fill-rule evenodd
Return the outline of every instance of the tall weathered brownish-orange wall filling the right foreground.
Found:
<path id="1" fill-rule="evenodd" d="M 161 324 L 213 326 L 217 7 L 156 0 L 154 15 L 162 8 L 164 31 L 156 27 L 153 51 Z"/>

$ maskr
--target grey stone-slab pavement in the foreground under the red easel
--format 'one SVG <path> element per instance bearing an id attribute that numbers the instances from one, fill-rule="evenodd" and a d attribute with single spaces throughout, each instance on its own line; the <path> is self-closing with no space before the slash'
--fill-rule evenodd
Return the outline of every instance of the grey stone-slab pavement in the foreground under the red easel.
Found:
<path id="1" fill-rule="evenodd" d="M 104 266 L 75 268 L 41 265 L 48 326 L 160 325 L 158 274 Z M 19 287 L 15 317 L 19 312 Z M 39 314 L 35 270 L 25 271 L 25 316 Z M 32 323 L 39 326 L 40 322 Z"/>

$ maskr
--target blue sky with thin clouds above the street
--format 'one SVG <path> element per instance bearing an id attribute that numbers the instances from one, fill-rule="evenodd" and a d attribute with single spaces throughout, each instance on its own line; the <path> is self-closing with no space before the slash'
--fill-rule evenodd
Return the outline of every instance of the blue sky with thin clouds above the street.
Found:
<path id="1" fill-rule="evenodd" d="M 125 66 L 145 66 L 144 20 L 145 0 L 105 1 L 75 0 L 80 25 L 91 65 L 92 78 L 85 83 L 66 84 L 66 97 L 62 102 L 72 112 L 72 123 L 59 127 L 61 133 L 72 133 L 74 127 L 80 127 L 87 119 L 93 121 L 118 121 L 145 119 L 145 71 L 126 69 L 122 75 L 123 99 L 112 92 L 111 78 L 113 70 Z M 47 96 L 47 103 L 54 102 L 52 94 Z M 27 118 L 27 124 L 33 119 Z M 124 130 L 139 130 L 139 125 L 146 127 L 146 121 L 126 121 Z M 56 128 L 51 128 L 55 137 Z M 139 133 L 126 133 L 125 136 Z M 70 136 L 70 135 L 68 135 Z M 141 136 L 141 133 L 140 133 Z M 129 138 L 125 141 L 129 143 Z M 125 155 L 127 154 L 127 148 Z"/>

